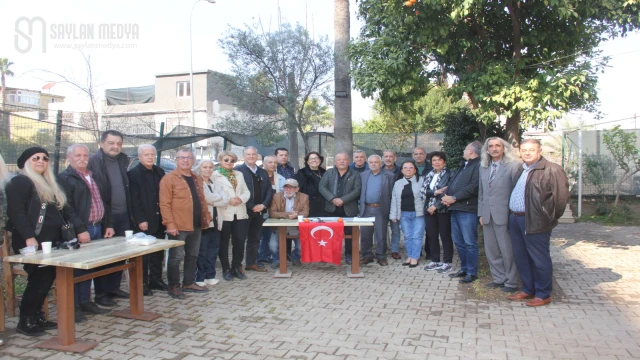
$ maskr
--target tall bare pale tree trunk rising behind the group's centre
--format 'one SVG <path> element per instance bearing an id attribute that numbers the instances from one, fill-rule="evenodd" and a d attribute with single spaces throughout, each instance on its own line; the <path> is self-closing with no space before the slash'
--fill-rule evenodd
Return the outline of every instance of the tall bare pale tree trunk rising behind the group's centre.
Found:
<path id="1" fill-rule="evenodd" d="M 353 151 L 353 127 L 351 124 L 351 75 L 347 56 L 349 46 L 349 0 L 334 0 L 334 81 L 336 92 L 346 92 L 346 97 L 335 98 L 335 153 Z"/>

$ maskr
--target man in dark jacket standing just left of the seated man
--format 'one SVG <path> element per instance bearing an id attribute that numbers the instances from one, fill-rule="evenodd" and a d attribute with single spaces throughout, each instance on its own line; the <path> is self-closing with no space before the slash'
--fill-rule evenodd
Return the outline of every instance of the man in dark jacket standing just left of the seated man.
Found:
<path id="1" fill-rule="evenodd" d="M 249 231 L 247 233 L 245 252 L 245 270 L 265 272 L 267 270 L 258 266 L 257 258 L 260 236 L 262 235 L 262 223 L 269 216 L 267 210 L 273 198 L 273 188 L 267 171 L 256 165 L 258 150 L 253 146 L 247 146 L 244 148 L 243 154 L 244 164 L 236 166 L 234 170 L 242 173 L 251 193 L 251 197 L 246 204 L 247 214 L 249 215 Z"/>

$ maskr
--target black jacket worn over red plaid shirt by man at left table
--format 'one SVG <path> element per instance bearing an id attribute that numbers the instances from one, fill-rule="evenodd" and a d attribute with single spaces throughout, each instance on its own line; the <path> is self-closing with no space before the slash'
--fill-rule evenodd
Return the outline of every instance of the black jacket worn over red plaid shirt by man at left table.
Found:
<path id="1" fill-rule="evenodd" d="M 73 224 L 76 234 L 87 231 L 89 214 L 91 213 L 91 190 L 71 166 L 58 174 L 58 183 L 67 195 L 67 204 L 71 208 L 68 220 Z M 102 217 L 102 226 L 104 228 L 113 227 L 106 211 Z"/>

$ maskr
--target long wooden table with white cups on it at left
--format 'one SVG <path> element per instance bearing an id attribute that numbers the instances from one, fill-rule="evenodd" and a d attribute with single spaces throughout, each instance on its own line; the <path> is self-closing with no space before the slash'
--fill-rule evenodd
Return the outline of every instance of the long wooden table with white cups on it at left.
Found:
<path id="1" fill-rule="evenodd" d="M 82 244 L 78 250 L 53 250 L 50 254 L 43 254 L 42 251 L 38 251 L 32 256 L 7 256 L 4 261 L 56 267 L 58 336 L 37 343 L 36 347 L 59 351 L 85 352 L 98 345 L 98 343 L 75 338 L 73 285 L 116 271 L 129 270 L 130 309 L 116 311 L 112 315 L 144 321 L 157 319 L 161 316 L 160 314 L 144 311 L 142 256 L 181 245 L 184 245 L 184 241 L 157 240 L 149 246 L 130 245 L 127 244 L 125 237 L 114 237 L 93 240 L 88 244 Z M 90 270 L 123 260 L 129 260 L 129 263 L 78 277 L 73 276 L 73 269 Z"/>

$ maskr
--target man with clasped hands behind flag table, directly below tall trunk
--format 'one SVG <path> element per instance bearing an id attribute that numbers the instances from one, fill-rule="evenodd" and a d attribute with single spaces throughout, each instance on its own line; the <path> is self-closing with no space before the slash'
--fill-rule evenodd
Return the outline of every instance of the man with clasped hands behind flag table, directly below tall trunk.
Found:
<path id="1" fill-rule="evenodd" d="M 358 199 L 362 183 L 360 174 L 349 167 L 349 155 L 337 153 L 333 158 L 335 167 L 327 170 L 320 180 L 320 194 L 324 198 L 324 210 L 329 216 L 357 216 Z M 344 229 L 345 235 L 351 235 L 351 227 Z M 344 257 L 351 264 L 351 241 L 344 244 Z"/>

